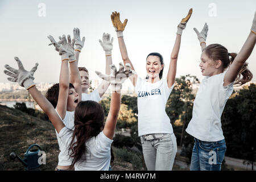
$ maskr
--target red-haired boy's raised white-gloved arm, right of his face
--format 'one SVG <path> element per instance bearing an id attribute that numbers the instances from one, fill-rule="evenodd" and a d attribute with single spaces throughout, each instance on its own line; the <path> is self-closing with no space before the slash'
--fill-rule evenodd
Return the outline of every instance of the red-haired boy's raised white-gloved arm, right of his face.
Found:
<path id="1" fill-rule="evenodd" d="M 112 49 L 113 49 L 113 38 L 110 40 L 110 34 L 103 34 L 102 40 L 99 40 L 101 47 L 105 51 L 106 56 L 106 75 L 110 75 L 110 65 L 112 65 Z M 98 93 L 100 97 L 104 95 L 106 90 L 109 88 L 109 82 L 103 80 L 98 86 Z"/>

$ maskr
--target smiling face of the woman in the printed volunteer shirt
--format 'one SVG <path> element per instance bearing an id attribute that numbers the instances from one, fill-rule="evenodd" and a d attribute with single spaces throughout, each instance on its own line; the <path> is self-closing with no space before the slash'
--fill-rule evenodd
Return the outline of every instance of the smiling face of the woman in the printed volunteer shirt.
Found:
<path id="1" fill-rule="evenodd" d="M 160 71 L 163 69 L 163 64 L 158 56 L 148 56 L 146 62 L 146 71 L 149 78 L 159 77 Z"/>

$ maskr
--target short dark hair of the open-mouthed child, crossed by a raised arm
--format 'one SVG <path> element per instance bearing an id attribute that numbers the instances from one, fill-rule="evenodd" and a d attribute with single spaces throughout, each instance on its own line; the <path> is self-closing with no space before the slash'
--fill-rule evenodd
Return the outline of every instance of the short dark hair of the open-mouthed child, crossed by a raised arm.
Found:
<path id="1" fill-rule="evenodd" d="M 75 86 L 71 83 L 69 83 L 69 89 L 75 89 Z M 49 102 L 51 102 L 52 106 L 56 108 L 58 98 L 59 98 L 59 90 L 60 90 L 60 85 L 59 84 L 54 84 L 49 88 L 46 92 L 46 98 Z"/>

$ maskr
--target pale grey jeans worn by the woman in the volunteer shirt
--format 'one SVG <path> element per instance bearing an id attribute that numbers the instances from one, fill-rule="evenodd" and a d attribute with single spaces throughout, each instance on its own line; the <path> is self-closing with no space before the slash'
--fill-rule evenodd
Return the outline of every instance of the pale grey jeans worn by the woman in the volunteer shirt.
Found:
<path id="1" fill-rule="evenodd" d="M 144 160 L 148 171 L 171 171 L 177 153 L 174 134 L 164 134 L 158 139 L 141 137 Z"/>

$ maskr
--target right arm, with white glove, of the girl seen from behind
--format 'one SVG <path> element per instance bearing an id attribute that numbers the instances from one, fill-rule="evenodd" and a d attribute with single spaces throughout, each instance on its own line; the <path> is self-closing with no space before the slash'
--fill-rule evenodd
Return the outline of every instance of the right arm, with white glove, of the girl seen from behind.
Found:
<path id="1" fill-rule="evenodd" d="M 133 73 L 131 72 L 131 66 L 129 64 L 126 65 L 126 71 L 124 71 L 124 67 L 122 63 L 119 63 L 119 71 L 117 72 L 117 68 L 112 64 L 110 65 L 110 75 L 103 75 L 100 72 L 96 72 L 96 74 L 101 77 L 105 81 L 109 81 L 110 88 L 112 90 L 112 97 L 110 102 L 110 110 L 108 117 L 106 119 L 105 127 L 103 133 L 106 137 L 113 139 L 115 125 L 117 124 L 117 117 L 119 113 L 119 109 L 121 106 L 121 89 L 122 83 Z"/>

